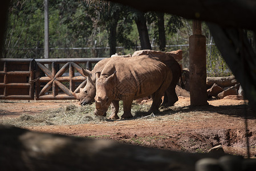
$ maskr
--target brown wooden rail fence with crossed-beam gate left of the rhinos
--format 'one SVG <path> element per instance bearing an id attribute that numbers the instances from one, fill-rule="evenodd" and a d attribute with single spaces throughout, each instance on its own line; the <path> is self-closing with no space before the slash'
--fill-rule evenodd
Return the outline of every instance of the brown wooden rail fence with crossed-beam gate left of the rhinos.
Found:
<path id="1" fill-rule="evenodd" d="M 0 99 L 75 99 L 71 91 L 86 85 L 82 67 L 102 59 L 0 59 Z"/>

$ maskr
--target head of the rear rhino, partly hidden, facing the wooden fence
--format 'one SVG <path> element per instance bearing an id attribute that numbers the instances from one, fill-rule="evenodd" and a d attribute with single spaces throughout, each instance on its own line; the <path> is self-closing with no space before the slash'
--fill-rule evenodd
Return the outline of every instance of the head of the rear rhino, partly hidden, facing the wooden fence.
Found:
<path id="1" fill-rule="evenodd" d="M 83 75 L 87 77 L 87 83 L 86 86 L 84 88 L 80 88 L 79 89 L 79 93 L 73 93 L 72 95 L 79 100 L 79 104 L 80 105 L 86 105 L 86 104 L 90 104 L 94 101 L 94 97 L 96 94 L 96 88 L 95 88 L 95 75 L 92 74 L 91 71 L 89 70 L 84 70 L 84 68 L 82 68 L 83 70 Z"/>

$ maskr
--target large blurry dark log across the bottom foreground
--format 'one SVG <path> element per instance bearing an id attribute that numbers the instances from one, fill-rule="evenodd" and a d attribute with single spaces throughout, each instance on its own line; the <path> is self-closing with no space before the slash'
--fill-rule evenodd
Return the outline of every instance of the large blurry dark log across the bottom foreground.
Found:
<path id="1" fill-rule="evenodd" d="M 15 127 L 0 127 L 0 134 L 1 170 L 194 170 L 213 157 Z"/>

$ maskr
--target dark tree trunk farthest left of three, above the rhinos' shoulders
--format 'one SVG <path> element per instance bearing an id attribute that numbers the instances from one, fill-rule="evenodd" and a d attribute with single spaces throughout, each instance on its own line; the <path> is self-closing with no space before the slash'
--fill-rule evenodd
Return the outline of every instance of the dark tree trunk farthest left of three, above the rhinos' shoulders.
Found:
<path id="1" fill-rule="evenodd" d="M 116 53 L 116 27 L 117 27 L 117 22 L 113 22 L 109 27 L 109 38 L 108 38 L 108 43 L 110 47 L 109 56 Z"/>

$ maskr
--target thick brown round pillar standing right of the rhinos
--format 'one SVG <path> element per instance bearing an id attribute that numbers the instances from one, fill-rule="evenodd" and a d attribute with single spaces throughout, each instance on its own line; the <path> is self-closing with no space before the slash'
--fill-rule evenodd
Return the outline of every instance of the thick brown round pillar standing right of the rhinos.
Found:
<path id="1" fill-rule="evenodd" d="M 189 37 L 190 105 L 206 105 L 206 38 L 201 21 L 193 21 L 193 35 Z"/>

